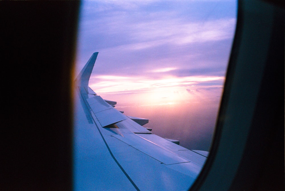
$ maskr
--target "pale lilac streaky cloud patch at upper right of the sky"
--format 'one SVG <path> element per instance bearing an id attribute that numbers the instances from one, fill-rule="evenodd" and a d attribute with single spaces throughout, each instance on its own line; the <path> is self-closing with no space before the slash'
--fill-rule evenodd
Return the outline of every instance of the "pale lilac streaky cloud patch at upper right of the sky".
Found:
<path id="1" fill-rule="evenodd" d="M 164 13 L 161 13 L 164 14 Z M 158 17 L 160 16 L 158 15 Z M 153 45 L 169 43 L 183 45 L 188 43 L 204 43 L 220 41 L 232 37 L 230 30 L 235 24 L 235 19 L 217 19 L 206 22 L 185 23 L 179 19 L 155 20 L 139 23 L 134 26 L 135 33 L 131 33 L 134 40 L 144 39 Z M 178 30 L 179 29 L 179 30 Z M 163 41 L 161 41 L 163 39 Z"/>

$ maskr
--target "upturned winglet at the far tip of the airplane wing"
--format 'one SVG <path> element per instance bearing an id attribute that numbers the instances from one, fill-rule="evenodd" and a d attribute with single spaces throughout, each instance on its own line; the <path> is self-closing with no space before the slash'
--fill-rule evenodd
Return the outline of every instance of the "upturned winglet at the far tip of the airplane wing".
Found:
<path id="1" fill-rule="evenodd" d="M 79 85 L 85 87 L 86 89 L 88 88 L 89 78 L 91 76 L 91 72 L 93 70 L 97 56 L 98 52 L 92 54 L 92 56 L 76 78 L 76 81 L 79 83 Z"/>

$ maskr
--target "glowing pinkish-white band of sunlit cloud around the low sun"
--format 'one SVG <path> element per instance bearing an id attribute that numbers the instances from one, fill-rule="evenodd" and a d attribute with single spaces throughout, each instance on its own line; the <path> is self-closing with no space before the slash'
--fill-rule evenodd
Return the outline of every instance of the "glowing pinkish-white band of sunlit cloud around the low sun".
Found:
<path id="1" fill-rule="evenodd" d="M 93 76 L 90 87 L 106 99 L 118 98 L 119 103 L 139 103 L 141 105 L 165 105 L 193 102 L 205 99 L 209 95 L 201 94 L 202 89 L 222 88 L 225 77 L 220 76 L 188 76 L 164 77 L 149 79 L 148 77 Z M 200 85 L 200 83 L 217 82 L 218 85 Z M 211 91 L 209 92 L 211 93 Z M 209 94 L 208 93 L 208 94 Z M 125 96 L 118 96 L 125 94 Z M 212 96 L 217 96 L 213 93 Z M 126 105 L 125 105 L 126 106 Z"/>

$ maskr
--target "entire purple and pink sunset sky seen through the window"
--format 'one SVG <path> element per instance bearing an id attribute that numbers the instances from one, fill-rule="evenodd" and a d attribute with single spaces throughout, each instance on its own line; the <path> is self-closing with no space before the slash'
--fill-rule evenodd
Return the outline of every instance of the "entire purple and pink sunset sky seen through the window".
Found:
<path id="1" fill-rule="evenodd" d="M 235 33 L 236 1 L 82 1 L 76 74 L 144 127 L 209 150 Z"/>

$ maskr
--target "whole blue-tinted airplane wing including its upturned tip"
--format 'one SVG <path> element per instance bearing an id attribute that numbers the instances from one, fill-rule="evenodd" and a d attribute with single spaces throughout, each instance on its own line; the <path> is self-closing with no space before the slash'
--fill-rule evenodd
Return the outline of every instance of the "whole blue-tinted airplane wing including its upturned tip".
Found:
<path id="1" fill-rule="evenodd" d="M 76 78 L 74 190 L 188 190 L 207 152 L 188 150 L 144 128 L 88 86 L 98 53 Z"/>

